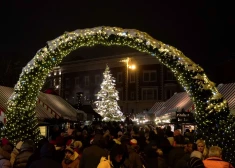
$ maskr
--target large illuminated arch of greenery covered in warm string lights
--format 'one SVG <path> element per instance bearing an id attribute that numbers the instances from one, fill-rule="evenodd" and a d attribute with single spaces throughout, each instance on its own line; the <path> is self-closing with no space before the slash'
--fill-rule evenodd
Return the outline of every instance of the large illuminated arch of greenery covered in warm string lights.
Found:
<path id="1" fill-rule="evenodd" d="M 48 73 L 70 52 L 96 44 L 128 46 L 149 53 L 170 68 L 196 106 L 195 118 L 199 135 L 204 139 L 209 136 L 206 140 L 210 145 L 221 144 L 220 141 L 223 140 L 219 132 L 222 130 L 229 132 L 224 126 L 229 116 L 229 109 L 226 100 L 218 92 L 215 84 L 208 79 L 204 70 L 181 51 L 153 39 L 147 33 L 117 27 L 96 27 L 65 32 L 47 42 L 47 45 L 36 53 L 23 68 L 8 102 L 5 135 L 10 140 L 16 142 L 20 140 L 19 137 L 30 137 L 35 141 L 38 139 L 39 130 L 36 127 L 34 108 L 37 95 Z M 217 117 L 218 121 L 213 117 Z M 219 135 L 217 139 L 212 138 L 215 133 Z"/>

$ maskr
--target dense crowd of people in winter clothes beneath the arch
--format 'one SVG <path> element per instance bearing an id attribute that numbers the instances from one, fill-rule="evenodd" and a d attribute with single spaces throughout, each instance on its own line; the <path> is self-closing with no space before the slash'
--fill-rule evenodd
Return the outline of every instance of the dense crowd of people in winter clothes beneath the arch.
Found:
<path id="1" fill-rule="evenodd" d="M 189 130 L 94 123 L 66 132 L 55 126 L 37 144 L 1 140 L 0 168 L 232 168 L 222 149 L 207 148 Z"/>

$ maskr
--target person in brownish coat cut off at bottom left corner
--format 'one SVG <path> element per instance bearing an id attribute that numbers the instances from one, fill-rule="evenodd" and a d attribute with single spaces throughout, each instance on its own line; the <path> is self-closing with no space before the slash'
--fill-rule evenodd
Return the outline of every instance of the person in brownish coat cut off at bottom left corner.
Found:
<path id="1" fill-rule="evenodd" d="M 0 147 L 0 168 L 11 168 L 11 151 L 12 147 L 10 145 Z"/>

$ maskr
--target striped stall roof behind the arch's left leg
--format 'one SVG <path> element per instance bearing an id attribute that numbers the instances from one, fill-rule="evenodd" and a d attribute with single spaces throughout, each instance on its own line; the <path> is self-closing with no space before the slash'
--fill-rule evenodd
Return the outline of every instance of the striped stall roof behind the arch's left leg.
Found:
<path id="1" fill-rule="evenodd" d="M 0 107 L 7 109 L 7 101 L 13 93 L 13 88 L 0 86 Z M 74 109 L 63 98 L 51 94 L 39 93 L 36 106 L 37 118 L 63 117 L 69 120 L 76 120 L 77 113 L 84 113 Z"/>

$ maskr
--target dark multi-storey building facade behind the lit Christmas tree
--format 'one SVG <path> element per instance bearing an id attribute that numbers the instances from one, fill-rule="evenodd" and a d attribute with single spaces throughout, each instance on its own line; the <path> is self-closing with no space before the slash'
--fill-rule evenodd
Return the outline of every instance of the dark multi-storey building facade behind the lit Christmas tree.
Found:
<path id="1" fill-rule="evenodd" d="M 130 58 L 127 67 L 121 60 Z M 105 58 L 64 62 L 49 75 L 47 82 L 70 104 L 78 103 L 77 93 L 83 93 L 83 103 L 93 103 L 100 90 L 106 64 L 116 79 L 119 105 L 124 113 L 148 111 L 156 101 L 165 101 L 181 91 L 174 75 L 159 61 L 145 53 L 129 53 Z"/>

